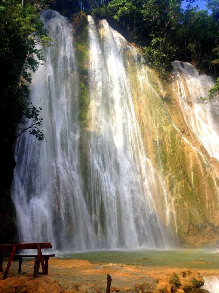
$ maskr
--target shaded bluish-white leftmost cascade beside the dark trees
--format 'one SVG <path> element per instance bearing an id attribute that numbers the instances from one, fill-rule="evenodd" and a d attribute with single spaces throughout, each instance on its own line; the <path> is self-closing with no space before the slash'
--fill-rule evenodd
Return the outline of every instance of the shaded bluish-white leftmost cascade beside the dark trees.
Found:
<path id="1" fill-rule="evenodd" d="M 20 241 L 62 249 L 93 246 L 79 172 L 78 74 L 72 26 L 55 11 L 41 14 L 53 47 L 33 74 L 31 100 L 43 108 L 46 140 L 23 134 L 15 148 L 12 186 Z M 73 232 L 74 231 L 74 232 Z"/>

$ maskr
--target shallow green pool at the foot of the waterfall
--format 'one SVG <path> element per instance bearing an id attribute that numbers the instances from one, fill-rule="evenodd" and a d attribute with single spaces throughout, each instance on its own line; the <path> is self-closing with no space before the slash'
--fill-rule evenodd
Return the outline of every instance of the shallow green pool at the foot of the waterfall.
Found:
<path id="1" fill-rule="evenodd" d="M 219 269 L 219 250 L 175 249 L 175 250 L 138 250 L 138 251 L 89 251 L 71 253 L 56 252 L 58 258 L 83 259 L 91 263 L 121 263 L 130 265 L 168 266 L 188 269 Z M 146 259 L 147 260 L 144 260 Z M 199 259 L 210 263 L 193 263 Z M 213 264 L 211 264 L 213 263 Z"/>

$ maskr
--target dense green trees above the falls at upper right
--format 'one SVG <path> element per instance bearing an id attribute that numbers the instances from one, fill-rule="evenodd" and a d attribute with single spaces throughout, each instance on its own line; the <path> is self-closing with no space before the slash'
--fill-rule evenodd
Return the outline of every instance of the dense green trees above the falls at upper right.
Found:
<path id="1" fill-rule="evenodd" d="M 218 74 L 219 1 L 206 2 L 211 15 L 191 4 L 183 11 L 181 0 L 102 1 L 91 14 L 122 25 L 130 41 L 141 47 L 145 62 L 162 77 L 168 77 L 174 59 Z"/>

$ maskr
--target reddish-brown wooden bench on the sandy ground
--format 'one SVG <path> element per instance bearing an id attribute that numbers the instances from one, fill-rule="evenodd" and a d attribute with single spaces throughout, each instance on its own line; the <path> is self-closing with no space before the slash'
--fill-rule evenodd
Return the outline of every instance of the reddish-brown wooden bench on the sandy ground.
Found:
<path id="1" fill-rule="evenodd" d="M 8 257 L 8 264 L 3 276 L 3 280 L 6 279 L 8 275 L 9 268 L 11 266 L 12 260 L 19 260 L 18 265 L 18 274 L 21 271 L 22 258 L 23 257 L 34 257 L 34 278 L 39 275 L 39 267 L 40 263 L 43 269 L 44 275 L 48 275 L 48 260 L 51 256 L 55 256 L 55 254 L 42 254 L 41 248 L 52 248 L 50 242 L 43 243 L 22 243 L 22 244 L 0 244 L 0 272 L 3 272 L 3 257 Z M 23 249 L 37 249 L 37 254 L 15 254 L 17 250 Z M 11 254 L 3 254 L 2 251 L 11 250 Z"/>

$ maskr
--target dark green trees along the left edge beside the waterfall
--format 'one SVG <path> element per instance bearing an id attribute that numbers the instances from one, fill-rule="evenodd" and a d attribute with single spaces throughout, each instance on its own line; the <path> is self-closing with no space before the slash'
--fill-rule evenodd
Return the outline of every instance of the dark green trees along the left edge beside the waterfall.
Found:
<path id="1" fill-rule="evenodd" d="M 31 70 L 36 71 L 44 61 L 42 48 L 51 45 L 39 11 L 46 8 L 44 1 L 2 0 L 0 3 L 0 117 L 2 127 L 1 191 L 10 188 L 14 162 L 12 147 L 16 132 L 27 121 Z M 33 109 L 32 109 L 33 110 Z M 30 117 L 28 114 L 27 116 Z M 33 117 L 31 117 L 32 119 Z M 40 123 L 37 118 L 34 123 Z M 40 126 L 38 124 L 38 126 Z M 36 126 L 37 127 L 37 126 Z M 42 130 L 32 128 L 31 134 L 42 139 Z M 10 163 L 8 163 L 10 162 Z"/>

